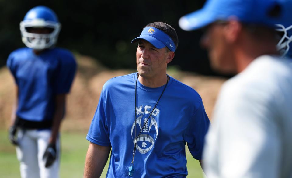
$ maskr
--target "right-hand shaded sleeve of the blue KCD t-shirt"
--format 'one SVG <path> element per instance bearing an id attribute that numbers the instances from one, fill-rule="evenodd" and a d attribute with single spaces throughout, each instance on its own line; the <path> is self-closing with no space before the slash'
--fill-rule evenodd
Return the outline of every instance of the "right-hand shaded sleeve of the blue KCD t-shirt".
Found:
<path id="1" fill-rule="evenodd" d="M 209 125 L 210 120 L 205 112 L 203 102 L 201 102 L 193 117 L 190 118 L 189 126 L 184 136 L 189 151 L 197 160 L 202 159 L 204 139 Z"/>

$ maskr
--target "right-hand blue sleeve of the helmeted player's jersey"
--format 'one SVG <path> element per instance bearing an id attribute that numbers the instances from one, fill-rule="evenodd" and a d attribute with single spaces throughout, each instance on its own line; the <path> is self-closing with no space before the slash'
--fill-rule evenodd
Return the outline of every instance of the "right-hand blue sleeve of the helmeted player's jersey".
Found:
<path id="1" fill-rule="evenodd" d="M 76 72 L 76 62 L 71 53 L 60 56 L 59 66 L 55 77 L 55 93 L 69 93 Z"/>

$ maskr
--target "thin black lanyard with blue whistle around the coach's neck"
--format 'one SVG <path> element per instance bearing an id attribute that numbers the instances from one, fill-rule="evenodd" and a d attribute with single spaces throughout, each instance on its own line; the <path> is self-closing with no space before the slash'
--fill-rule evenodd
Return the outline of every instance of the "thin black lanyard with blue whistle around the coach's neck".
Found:
<path id="1" fill-rule="evenodd" d="M 131 165 L 130 165 L 130 167 L 129 167 L 129 176 L 131 176 L 131 177 L 133 176 L 133 172 L 134 172 L 134 157 L 135 157 L 135 154 L 136 154 L 137 139 L 138 139 L 139 135 L 141 134 L 142 130 L 144 129 L 145 125 L 147 124 L 148 119 L 150 118 L 152 112 L 154 111 L 156 105 L 158 104 L 158 101 L 160 100 L 160 98 L 162 97 L 162 94 L 163 94 L 164 91 L 165 91 L 165 88 L 166 88 L 166 86 L 167 86 L 167 84 L 168 84 L 168 82 L 169 82 L 169 76 L 168 76 L 168 75 L 166 75 L 166 76 L 167 76 L 167 82 L 166 82 L 166 84 L 165 84 L 165 87 L 164 87 L 162 93 L 160 94 L 160 96 L 159 96 L 159 98 L 158 98 L 158 100 L 157 100 L 155 106 L 153 107 L 153 109 L 152 109 L 150 115 L 148 116 L 146 122 L 144 123 L 142 129 L 140 130 L 139 134 L 137 135 L 137 129 L 136 129 L 136 128 L 137 128 L 137 114 L 136 114 L 136 95 L 137 95 L 137 94 L 136 94 L 136 93 L 137 93 L 137 82 L 138 82 L 138 78 L 139 78 L 139 73 L 137 73 L 137 79 L 136 79 L 136 84 L 135 84 L 135 110 L 134 110 L 134 111 L 135 111 L 135 140 L 134 140 L 133 159 L 132 159 Z"/>

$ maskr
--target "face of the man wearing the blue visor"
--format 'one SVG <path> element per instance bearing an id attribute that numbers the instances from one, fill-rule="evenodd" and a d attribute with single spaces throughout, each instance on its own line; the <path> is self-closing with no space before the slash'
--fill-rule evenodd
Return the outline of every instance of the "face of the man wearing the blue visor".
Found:
<path id="1" fill-rule="evenodd" d="M 165 47 L 166 48 L 166 47 Z M 138 73 L 145 78 L 165 75 L 167 64 L 172 60 L 165 48 L 155 48 L 146 40 L 140 40 L 136 51 Z"/>

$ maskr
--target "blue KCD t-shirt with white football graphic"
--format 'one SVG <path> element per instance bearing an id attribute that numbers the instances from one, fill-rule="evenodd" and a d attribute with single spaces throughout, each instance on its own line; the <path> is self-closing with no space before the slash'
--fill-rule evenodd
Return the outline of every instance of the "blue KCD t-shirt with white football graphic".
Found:
<path id="1" fill-rule="evenodd" d="M 142 129 L 165 85 L 149 88 L 138 80 L 135 109 L 136 78 L 137 73 L 133 73 L 104 84 L 86 139 L 112 147 L 107 177 L 127 177 L 137 126 L 137 135 L 142 132 L 137 141 L 133 177 L 186 177 L 185 144 L 195 159 L 201 159 L 210 124 L 200 95 L 170 77 Z"/>

